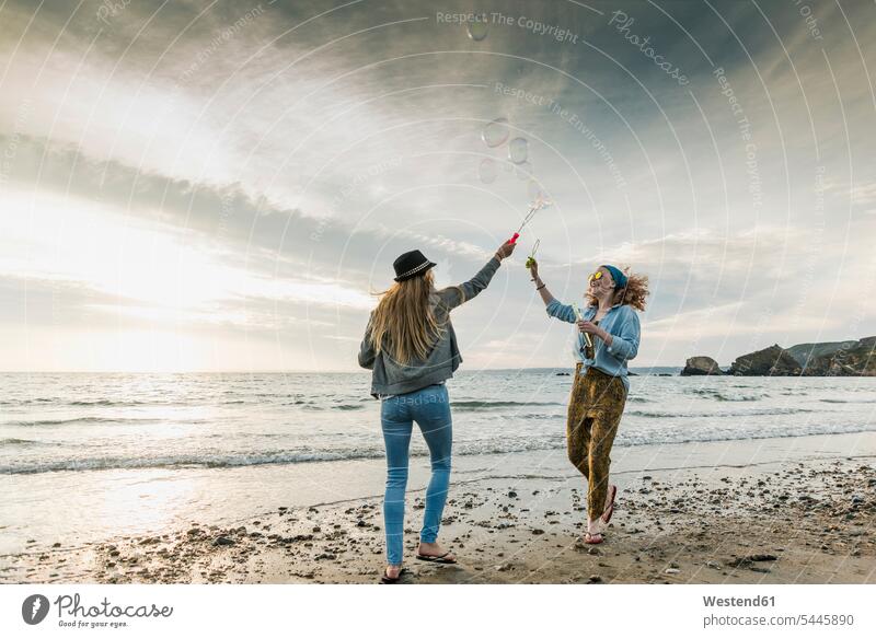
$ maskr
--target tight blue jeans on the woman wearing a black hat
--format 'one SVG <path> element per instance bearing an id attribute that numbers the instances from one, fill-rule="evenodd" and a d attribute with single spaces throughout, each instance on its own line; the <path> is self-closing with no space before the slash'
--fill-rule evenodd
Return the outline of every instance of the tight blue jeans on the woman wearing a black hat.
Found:
<path id="1" fill-rule="evenodd" d="M 419 540 L 435 543 L 450 485 L 450 449 L 453 428 L 450 397 L 445 385 L 429 385 L 415 392 L 381 401 L 380 420 L 387 445 L 387 492 L 383 525 L 387 531 L 387 562 L 402 564 L 404 542 L 404 492 L 411 432 L 416 421 L 431 457 L 431 479 L 426 488 L 426 511 Z"/>

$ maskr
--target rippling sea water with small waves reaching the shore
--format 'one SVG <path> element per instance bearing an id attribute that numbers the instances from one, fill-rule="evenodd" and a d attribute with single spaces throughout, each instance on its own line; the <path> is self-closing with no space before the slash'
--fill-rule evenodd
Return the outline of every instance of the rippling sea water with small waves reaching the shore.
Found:
<path id="1" fill-rule="evenodd" d="M 448 381 L 454 457 L 507 467 L 519 452 L 562 456 L 568 372 L 459 372 Z M 615 448 L 876 431 L 873 378 L 638 369 L 630 381 Z M 383 457 L 367 372 L 0 382 L 0 553 L 176 529 L 208 512 L 233 519 L 292 491 L 339 500 L 342 478 L 355 484 L 362 460 Z M 422 437 L 411 449 L 427 454 Z"/>

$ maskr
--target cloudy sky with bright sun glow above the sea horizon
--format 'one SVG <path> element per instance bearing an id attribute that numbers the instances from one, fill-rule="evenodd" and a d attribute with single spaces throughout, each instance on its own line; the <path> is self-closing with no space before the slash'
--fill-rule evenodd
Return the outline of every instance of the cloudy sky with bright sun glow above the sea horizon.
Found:
<path id="1" fill-rule="evenodd" d="M 874 76 L 869 0 L 7 0 L 0 368 L 354 370 L 400 253 L 468 279 L 539 189 L 469 369 L 569 364 L 537 237 L 650 278 L 637 366 L 876 334 Z"/>

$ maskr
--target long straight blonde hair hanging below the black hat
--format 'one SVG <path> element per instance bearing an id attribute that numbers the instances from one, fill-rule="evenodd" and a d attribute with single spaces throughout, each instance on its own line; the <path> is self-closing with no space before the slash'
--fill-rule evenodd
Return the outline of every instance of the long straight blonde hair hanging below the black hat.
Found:
<path id="1" fill-rule="evenodd" d="M 425 359 L 446 327 L 438 325 L 429 295 L 435 291 L 431 270 L 422 277 L 396 281 L 378 292 L 380 302 L 371 317 L 371 343 L 402 366 Z"/>

